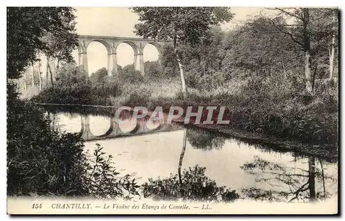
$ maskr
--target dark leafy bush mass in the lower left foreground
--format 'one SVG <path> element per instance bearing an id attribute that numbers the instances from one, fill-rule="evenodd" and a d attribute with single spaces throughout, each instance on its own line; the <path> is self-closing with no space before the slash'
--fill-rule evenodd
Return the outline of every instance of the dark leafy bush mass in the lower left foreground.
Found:
<path id="1" fill-rule="evenodd" d="M 8 125 L 8 195 L 83 194 L 79 135 L 60 134 L 41 109 L 17 99 Z"/>

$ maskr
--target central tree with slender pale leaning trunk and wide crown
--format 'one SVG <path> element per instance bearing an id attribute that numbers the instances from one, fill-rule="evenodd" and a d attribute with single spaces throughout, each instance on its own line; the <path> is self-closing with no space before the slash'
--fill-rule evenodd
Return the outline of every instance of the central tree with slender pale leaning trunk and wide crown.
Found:
<path id="1" fill-rule="evenodd" d="M 179 64 L 182 92 L 186 97 L 184 64 L 179 46 L 197 44 L 210 26 L 230 21 L 233 14 L 226 7 L 134 7 L 132 10 L 139 15 L 140 23 L 135 25 L 137 35 L 172 41 Z"/>

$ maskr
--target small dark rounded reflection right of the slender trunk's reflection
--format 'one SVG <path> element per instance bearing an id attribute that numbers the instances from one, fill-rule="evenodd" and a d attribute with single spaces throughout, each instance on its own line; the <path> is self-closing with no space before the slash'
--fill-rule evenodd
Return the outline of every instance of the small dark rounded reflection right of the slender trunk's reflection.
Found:
<path id="1" fill-rule="evenodd" d="M 225 138 L 200 128 L 188 128 L 187 140 L 194 148 L 210 151 L 221 149 Z"/>

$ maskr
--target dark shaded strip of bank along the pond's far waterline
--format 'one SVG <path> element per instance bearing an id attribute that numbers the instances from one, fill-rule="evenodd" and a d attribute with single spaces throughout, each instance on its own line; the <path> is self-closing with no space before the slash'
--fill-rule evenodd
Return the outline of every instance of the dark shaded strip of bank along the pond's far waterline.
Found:
<path id="1" fill-rule="evenodd" d="M 104 115 L 114 116 L 116 108 L 113 106 L 92 106 L 92 105 L 70 105 L 70 104 L 39 104 L 45 106 L 45 109 L 55 113 L 76 113 L 83 115 Z M 174 122 L 186 126 L 183 117 L 175 119 Z M 248 132 L 236 125 L 215 125 L 215 124 L 188 124 L 190 128 L 210 131 L 210 133 L 219 133 L 224 137 L 232 137 L 242 142 L 259 146 L 267 150 L 279 152 L 291 152 L 294 155 L 313 155 L 322 157 L 330 162 L 334 162 L 338 157 L 338 146 L 325 143 L 306 143 L 299 140 L 290 140 L 288 138 L 277 137 L 265 133 Z"/>

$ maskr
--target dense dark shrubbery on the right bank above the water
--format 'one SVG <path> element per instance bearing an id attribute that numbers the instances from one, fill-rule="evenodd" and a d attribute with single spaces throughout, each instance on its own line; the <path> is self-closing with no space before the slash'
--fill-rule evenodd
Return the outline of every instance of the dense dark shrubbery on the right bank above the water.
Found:
<path id="1" fill-rule="evenodd" d="M 230 122 L 246 131 L 335 145 L 338 109 L 333 95 L 312 98 L 293 79 L 256 78 L 242 88 L 238 102 L 229 104 Z"/>

